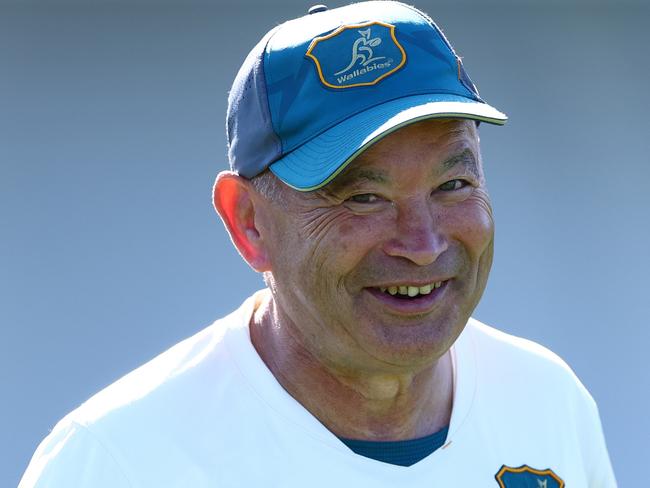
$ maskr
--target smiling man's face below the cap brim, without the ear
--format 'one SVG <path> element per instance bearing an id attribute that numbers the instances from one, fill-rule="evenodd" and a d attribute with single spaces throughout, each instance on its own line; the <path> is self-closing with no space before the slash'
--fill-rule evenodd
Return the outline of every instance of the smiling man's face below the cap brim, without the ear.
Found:
<path id="1" fill-rule="evenodd" d="M 449 349 L 492 262 L 474 122 L 409 125 L 326 187 L 283 192 L 259 215 L 267 278 L 280 319 L 311 354 L 381 371 L 424 367 Z"/>

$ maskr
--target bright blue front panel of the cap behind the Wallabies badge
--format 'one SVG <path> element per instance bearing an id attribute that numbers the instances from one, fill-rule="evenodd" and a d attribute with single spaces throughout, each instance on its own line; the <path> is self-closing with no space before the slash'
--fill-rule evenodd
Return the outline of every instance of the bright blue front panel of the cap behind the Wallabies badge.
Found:
<path id="1" fill-rule="evenodd" d="M 379 15 L 381 24 L 346 29 L 346 26 L 373 22 L 371 16 L 368 18 L 371 9 L 357 7 L 364 4 L 355 4 L 343 7 L 349 14 L 345 16 L 349 20 L 344 26 L 340 25 L 341 14 L 329 15 L 335 12 L 329 11 L 318 15 L 318 23 L 300 19 L 299 31 L 292 29 L 289 22 L 271 38 L 265 57 L 265 73 L 273 127 L 282 141 L 283 154 L 342 120 L 395 98 L 446 93 L 479 100 L 478 94 L 470 89 L 471 85 L 468 87 L 463 83 L 465 80 L 461 81 L 458 58 L 428 19 L 402 4 L 380 4 L 383 5 L 377 8 L 382 9 Z M 359 22 L 353 21 L 355 8 Z M 392 42 L 388 29 L 382 24 L 394 26 L 397 43 Z M 324 39 L 319 41 L 319 38 Z M 380 42 L 370 45 L 372 39 Z M 317 45 L 312 58 L 307 54 L 310 47 L 314 47 L 313 42 Z M 383 58 L 380 61 L 384 62 L 392 60 L 391 66 L 376 68 L 382 74 L 401 62 L 396 44 L 403 47 L 406 61 L 400 69 L 388 73 L 375 84 L 347 88 L 328 86 L 338 83 L 337 72 L 348 75 L 355 72 L 354 64 L 351 70 L 344 70 L 354 60 L 355 43 L 357 48 L 360 45 L 369 48 L 365 50 L 366 55 Z M 319 73 L 314 58 L 321 60 L 321 71 L 329 71 Z M 381 64 L 375 63 L 375 66 Z M 332 72 L 337 66 L 340 67 L 338 71 Z M 374 80 L 372 73 L 357 74 L 355 78 L 366 83 Z M 354 85 L 354 81 L 343 80 L 339 84 Z"/>

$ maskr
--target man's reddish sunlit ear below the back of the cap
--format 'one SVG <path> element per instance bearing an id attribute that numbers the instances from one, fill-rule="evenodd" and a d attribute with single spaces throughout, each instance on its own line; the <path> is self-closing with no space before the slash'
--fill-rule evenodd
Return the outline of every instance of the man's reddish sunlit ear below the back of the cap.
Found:
<path id="1" fill-rule="evenodd" d="M 261 273 L 270 271 L 270 263 L 255 225 L 254 191 L 247 179 L 232 171 L 222 171 L 214 182 L 212 202 L 239 254 L 251 268 Z"/>

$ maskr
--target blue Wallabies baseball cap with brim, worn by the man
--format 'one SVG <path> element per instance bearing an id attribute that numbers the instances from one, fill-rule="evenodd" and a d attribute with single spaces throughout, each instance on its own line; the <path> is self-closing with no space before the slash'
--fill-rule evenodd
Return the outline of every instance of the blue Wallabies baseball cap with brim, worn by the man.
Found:
<path id="1" fill-rule="evenodd" d="M 308 191 L 405 125 L 462 118 L 502 125 L 443 33 L 393 1 L 310 9 L 253 48 L 228 99 L 228 158 Z"/>

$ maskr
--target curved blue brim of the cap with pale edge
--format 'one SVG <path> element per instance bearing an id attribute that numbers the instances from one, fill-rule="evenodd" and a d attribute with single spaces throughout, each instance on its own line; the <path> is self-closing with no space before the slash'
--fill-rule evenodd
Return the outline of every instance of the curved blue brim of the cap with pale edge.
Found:
<path id="1" fill-rule="evenodd" d="M 432 118 L 471 119 L 497 125 L 508 120 L 486 103 L 457 95 L 398 98 L 343 120 L 274 162 L 269 169 L 296 190 L 315 190 L 329 183 L 381 138 L 405 125 Z"/>

